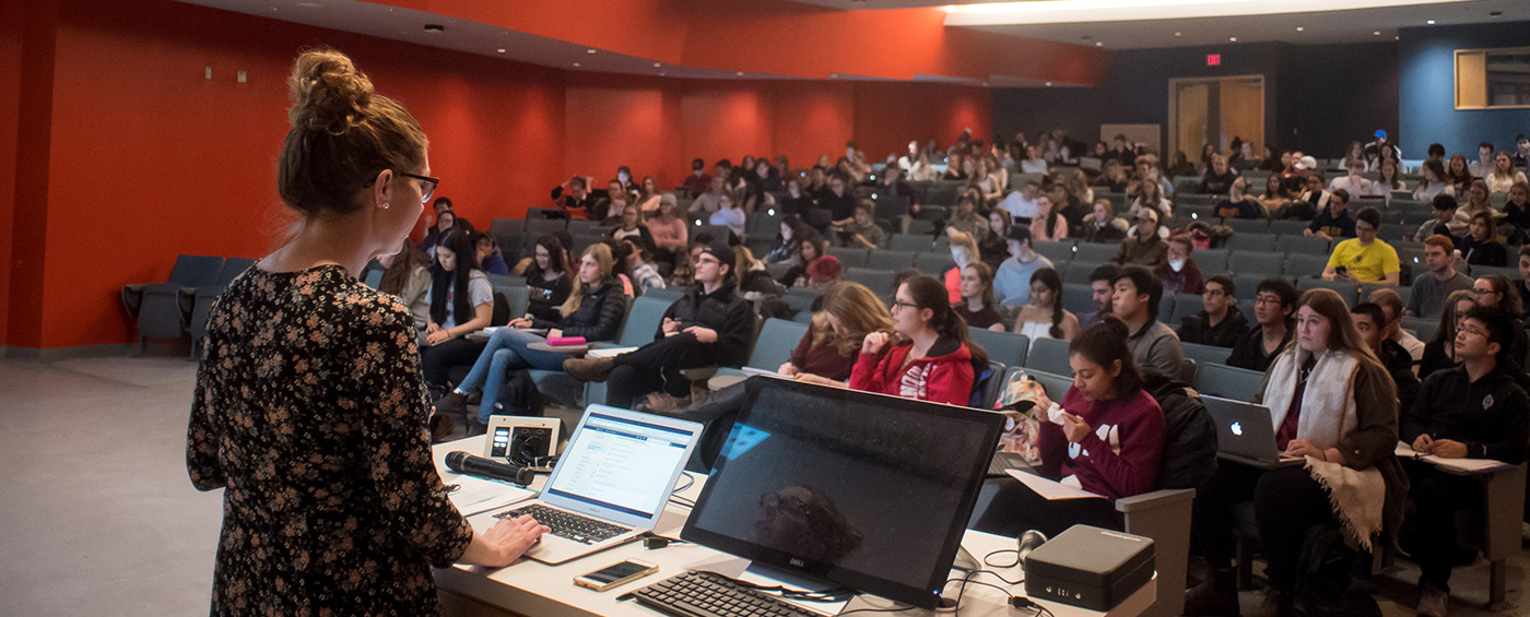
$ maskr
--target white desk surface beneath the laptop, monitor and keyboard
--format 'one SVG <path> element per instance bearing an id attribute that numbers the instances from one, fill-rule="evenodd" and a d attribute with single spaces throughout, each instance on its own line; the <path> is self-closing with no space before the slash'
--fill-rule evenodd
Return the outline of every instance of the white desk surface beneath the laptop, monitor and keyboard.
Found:
<path id="1" fill-rule="evenodd" d="M 483 437 L 468 437 L 457 441 L 441 443 L 435 446 L 436 469 L 441 470 L 441 480 L 451 484 L 459 476 L 453 473 L 445 466 L 447 452 L 465 451 L 473 455 L 483 454 Z M 695 475 L 695 473 L 693 473 Z M 537 480 L 531 484 L 531 489 L 540 490 L 546 483 L 546 475 L 539 473 Z M 696 481 L 682 492 L 676 495 L 695 499 L 701 495 L 701 487 L 705 483 L 705 476 L 698 476 Z M 685 480 L 679 481 L 684 486 Z M 494 510 L 499 512 L 499 510 Z M 690 510 L 687 507 L 670 502 L 664 515 L 659 518 L 658 527 L 653 530 L 661 536 L 678 538 L 681 527 L 685 524 L 685 516 Z M 493 524 L 493 513 L 483 513 L 477 516 L 470 516 L 468 521 L 477 530 L 485 530 Z M 965 547 L 972 554 L 982 560 L 982 557 L 994 550 L 1013 548 L 1014 541 L 1010 538 L 993 536 L 982 531 L 968 530 L 962 539 L 962 547 Z M 659 565 L 659 571 L 633 580 L 627 585 L 612 588 L 609 591 L 591 591 L 583 586 L 574 585 L 574 577 L 586 574 L 594 570 L 604 568 L 610 564 L 617 564 L 623 559 L 643 559 Z M 994 556 L 994 562 L 1007 564 L 1013 560 L 1013 554 Z M 520 559 L 511 564 L 508 568 L 487 570 L 482 567 L 467 567 L 454 565 L 451 568 L 436 570 L 436 585 L 445 591 L 451 591 L 461 596 L 471 597 L 490 606 L 500 606 L 513 612 L 526 615 L 632 615 L 632 617 L 655 617 L 659 612 L 647 609 L 636 602 L 617 602 L 617 597 L 646 586 L 655 582 L 664 580 L 670 576 L 679 574 L 685 570 L 711 570 L 727 576 L 739 577 L 744 568 L 748 567 L 748 560 L 734 557 L 727 553 L 721 553 L 707 547 L 695 544 L 675 544 L 667 548 L 647 550 L 643 548 L 641 542 L 632 542 L 621 547 L 615 547 L 606 551 L 600 551 L 581 559 L 575 559 L 560 565 L 546 565 L 534 562 L 529 559 Z M 999 576 L 1010 580 L 1021 580 L 1024 573 L 1019 568 L 990 568 L 984 570 L 998 571 Z M 750 576 L 753 579 L 753 573 Z M 952 579 L 959 579 L 961 574 L 952 571 Z M 984 583 L 999 585 L 1010 590 L 1011 594 L 1024 596 L 1025 585 L 1007 585 L 1004 580 L 996 579 L 991 574 L 979 574 L 972 580 L 979 580 Z M 950 582 L 947 585 L 946 596 L 955 596 L 958 582 Z M 1037 600 L 1037 603 L 1047 606 L 1056 617 L 1097 617 L 1097 615 L 1137 615 L 1152 606 L 1157 599 L 1157 577 L 1149 585 L 1143 585 L 1141 590 L 1134 593 L 1118 606 L 1109 612 L 1089 611 L 1077 606 L 1068 606 L 1057 602 Z M 826 611 L 825 606 L 837 605 L 815 605 L 802 603 L 808 609 Z M 855 608 L 889 608 L 892 603 L 881 597 L 860 596 L 846 605 L 846 611 Z M 1005 615 L 1005 617 L 1030 617 L 1034 611 L 1021 611 L 1008 605 L 999 590 L 985 585 L 967 585 L 962 596 L 961 612 L 967 615 Z M 863 615 L 933 615 L 933 611 L 924 609 L 909 609 L 901 612 L 858 612 Z"/>

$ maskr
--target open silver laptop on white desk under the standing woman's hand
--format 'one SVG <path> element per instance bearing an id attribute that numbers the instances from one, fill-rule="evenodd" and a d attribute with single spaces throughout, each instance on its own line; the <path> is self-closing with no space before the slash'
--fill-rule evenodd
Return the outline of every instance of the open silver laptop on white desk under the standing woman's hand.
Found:
<path id="1" fill-rule="evenodd" d="M 531 515 L 545 533 L 526 556 L 543 564 L 626 544 L 658 524 L 702 425 L 591 405 L 537 499 L 490 515 Z"/>

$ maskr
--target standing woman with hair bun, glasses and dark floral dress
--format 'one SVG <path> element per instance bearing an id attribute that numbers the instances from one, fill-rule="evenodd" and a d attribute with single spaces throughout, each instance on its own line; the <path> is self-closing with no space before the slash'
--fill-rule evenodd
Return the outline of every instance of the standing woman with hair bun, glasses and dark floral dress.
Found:
<path id="1" fill-rule="evenodd" d="M 298 57 L 277 185 L 297 234 L 210 316 L 187 440 L 223 490 L 211 614 L 436 614 L 430 567 L 505 567 L 546 527 L 474 533 L 425 435 L 415 319 L 360 281 L 438 180 L 413 116 L 350 58 Z"/>

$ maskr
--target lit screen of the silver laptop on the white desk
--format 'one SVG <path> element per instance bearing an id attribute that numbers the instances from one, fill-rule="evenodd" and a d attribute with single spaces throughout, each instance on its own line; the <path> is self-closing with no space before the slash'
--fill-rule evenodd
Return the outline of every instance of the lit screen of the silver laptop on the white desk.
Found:
<path id="1" fill-rule="evenodd" d="M 669 498 L 695 432 L 591 408 L 543 498 L 571 499 L 621 515 L 652 518 Z"/>

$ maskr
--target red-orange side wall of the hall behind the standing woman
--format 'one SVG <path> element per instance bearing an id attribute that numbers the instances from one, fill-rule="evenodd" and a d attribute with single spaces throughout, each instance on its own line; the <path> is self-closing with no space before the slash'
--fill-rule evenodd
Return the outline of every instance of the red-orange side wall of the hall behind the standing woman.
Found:
<path id="1" fill-rule="evenodd" d="M 693 157 L 806 165 L 849 139 L 881 157 L 988 133 L 973 87 L 568 73 L 170 0 L 20 5 L 0 8 L 0 153 L 15 153 L 0 170 L 0 345 L 132 342 L 122 284 L 164 279 L 177 254 L 278 244 L 285 78 L 317 44 L 419 118 L 441 194 L 480 225 L 546 203 L 572 173 L 630 165 L 673 186 Z"/>

